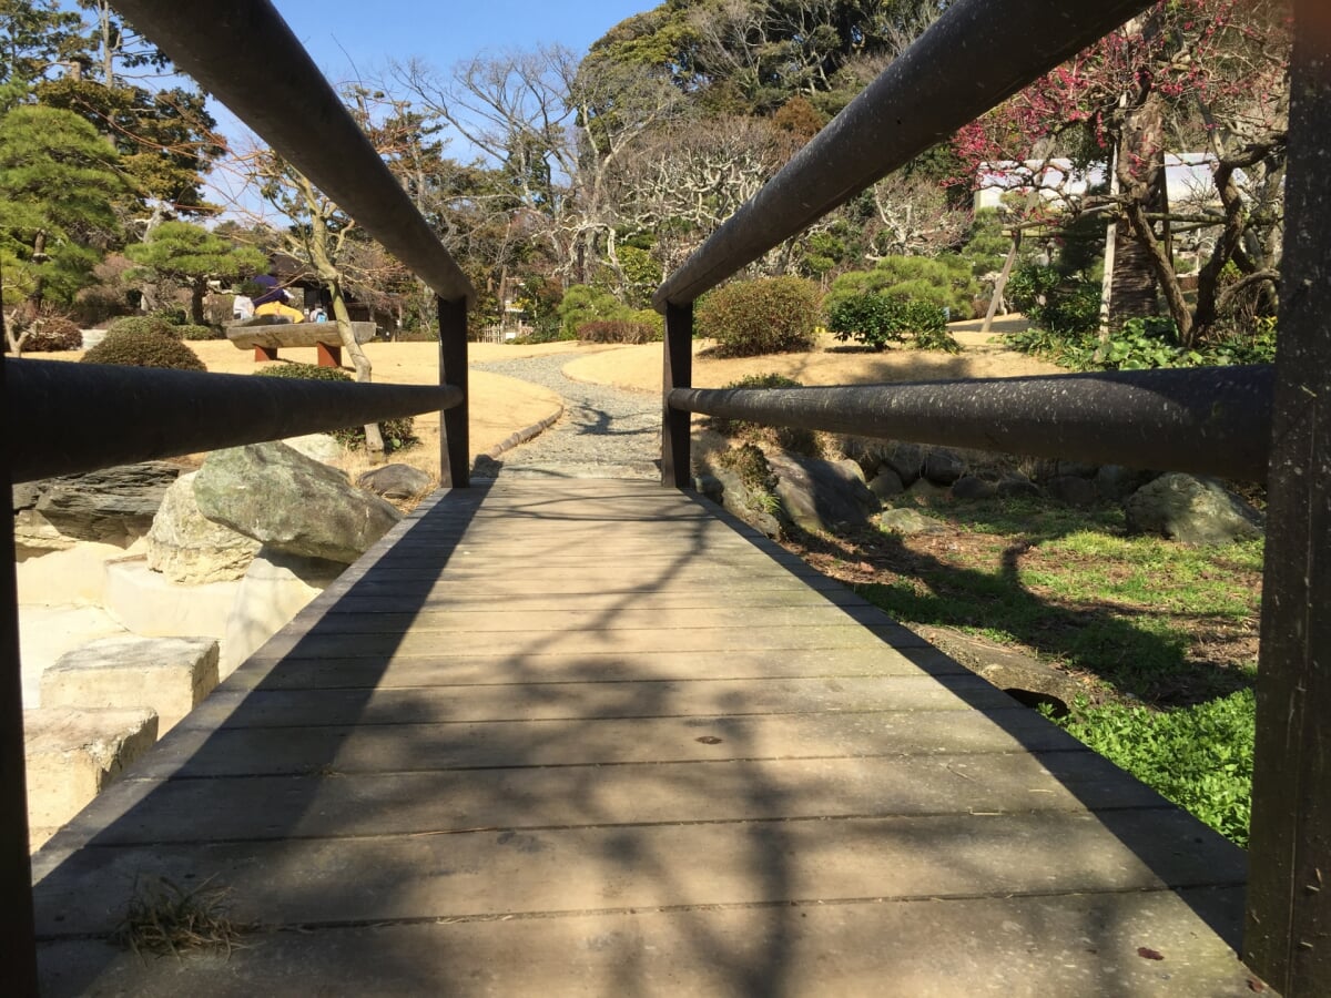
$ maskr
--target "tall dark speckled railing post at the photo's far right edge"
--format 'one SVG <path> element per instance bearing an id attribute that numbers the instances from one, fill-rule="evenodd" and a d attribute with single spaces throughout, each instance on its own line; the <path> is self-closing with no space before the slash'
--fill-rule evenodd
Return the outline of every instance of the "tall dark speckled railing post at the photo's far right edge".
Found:
<path id="1" fill-rule="evenodd" d="M 1331 989 L 1331 8 L 1296 0 L 1243 955 Z"/>

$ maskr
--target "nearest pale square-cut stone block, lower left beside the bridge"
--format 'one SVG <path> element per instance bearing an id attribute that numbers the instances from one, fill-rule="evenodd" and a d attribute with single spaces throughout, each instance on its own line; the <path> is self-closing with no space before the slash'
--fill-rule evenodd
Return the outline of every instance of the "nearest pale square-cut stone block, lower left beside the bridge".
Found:
<path id="1" fill-rule="evenodd" d="M 39 849 L 157 740 L 146 707 L 23 712 L 29 848 Z"/>

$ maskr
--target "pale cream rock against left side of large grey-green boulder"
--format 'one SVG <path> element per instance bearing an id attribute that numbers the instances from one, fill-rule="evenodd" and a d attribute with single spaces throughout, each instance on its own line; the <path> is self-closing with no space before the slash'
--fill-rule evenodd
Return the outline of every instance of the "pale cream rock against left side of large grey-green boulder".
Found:
<path id="1" fill-rule="evenodd" d="M 181 475 L 166 490 L 148 531 L 148 567 L 185 585 L 241 579 L 260 543 L 198 511 L 197 474 Z"/>

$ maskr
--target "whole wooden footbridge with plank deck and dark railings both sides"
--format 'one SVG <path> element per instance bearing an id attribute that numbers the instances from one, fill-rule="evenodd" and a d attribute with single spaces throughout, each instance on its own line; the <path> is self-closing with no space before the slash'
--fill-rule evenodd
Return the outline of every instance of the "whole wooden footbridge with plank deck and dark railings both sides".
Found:
<path id="1" fill-rule="evenodd" d="M 699 295 L 1149 5 L 1051 17 L 1044 0 L 949 3 L 709 236 L 654 297 L 663 490 L 469 488 L 476 293 L 338 94 L 268 0 L 116 0 L 434 291 L 441 382 L 0 359 L 0 472 L 25 482 L 439 411 L 446 491 L 31 865 L 15 578 L 0 572 L 5 993 L 1268 990 L 1234 955 L 1240 930 L 1244 958 L 1287 997 L 1331 993 L 1331 7 L 1294 0 L 1284 197 L 1298 224 L 1274 367 L 691 387 Z M 984 56 L 958 72 L 958 53 Z M 692 413 L 1267 480 L 1247 870 L 700 504 Z M 226 892 L 242 945 L 178 959 L 112 946 L 154 885 L 196 904 Z"/>

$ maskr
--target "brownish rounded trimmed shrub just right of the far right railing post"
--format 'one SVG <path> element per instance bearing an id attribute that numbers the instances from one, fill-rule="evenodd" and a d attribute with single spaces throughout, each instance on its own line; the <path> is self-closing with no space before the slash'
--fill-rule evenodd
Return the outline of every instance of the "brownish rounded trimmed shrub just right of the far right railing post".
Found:
<path id="1" fill-rule="evenodd" d="M 736 281 L 704 295 L 697 327 L 716 339 L 721 357 L 757 357 L 812 349 L 817 315 L 817 285 L 771 277 Z"/>

